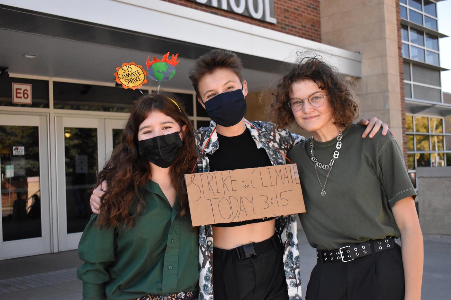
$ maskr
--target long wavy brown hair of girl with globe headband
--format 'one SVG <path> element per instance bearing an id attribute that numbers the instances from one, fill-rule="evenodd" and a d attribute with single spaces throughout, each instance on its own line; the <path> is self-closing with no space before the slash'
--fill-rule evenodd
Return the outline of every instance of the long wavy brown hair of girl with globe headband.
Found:
<path id="1" fill-rule="evenodd" d="M 170 99 L 177 102 L 178 107 Z M 180 110 L 179 110 L 180 107 Z M 161 111 L 173 118 L 182 132 L 183 147 L 175 162 L 170 166 L 170 179 L 179 196 L 180 215 L 189 216 L 189 205 L 184 174 L 189 173 L 196 162 L 193 125 L 184 110 L 183 103 L 167 92 L 152 93 L 136 102 L 125 125 L 121 143 L 111 153 L 111 158 L 97 176 L 97 185 L 106 180 L 108 189 L 101 197 L 98 225 L 133 226 L 134 221 L 145 209 L 143 193 L 147 180 L 152 179 L 149 162 L 139 155 L 138 129 L 152 111 Z M 138 201 L 137 212 L 129 212 Z"/>

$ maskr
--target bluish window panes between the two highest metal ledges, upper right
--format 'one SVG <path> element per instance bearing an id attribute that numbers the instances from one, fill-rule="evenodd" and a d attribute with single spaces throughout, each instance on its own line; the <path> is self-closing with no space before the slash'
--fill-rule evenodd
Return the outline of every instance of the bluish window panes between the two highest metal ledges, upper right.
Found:
<path id="1" fill-rule="evenodd" d="M 410 26 L 401 26 L 402 56 L 412 60 L 440 65 L 438 37 Z"/>

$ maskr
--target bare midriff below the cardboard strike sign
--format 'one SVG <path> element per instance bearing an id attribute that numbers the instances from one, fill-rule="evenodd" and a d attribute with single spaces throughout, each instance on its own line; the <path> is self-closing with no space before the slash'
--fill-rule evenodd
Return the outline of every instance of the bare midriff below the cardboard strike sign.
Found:
<path id="1" fill-rule="evenodd" d="M 220 249 L 233 249 L 241 245 L 267 240 L 274 235 L 275 225 L 275 219 L 234 227 L 212 225 L 213 246 Z"/>

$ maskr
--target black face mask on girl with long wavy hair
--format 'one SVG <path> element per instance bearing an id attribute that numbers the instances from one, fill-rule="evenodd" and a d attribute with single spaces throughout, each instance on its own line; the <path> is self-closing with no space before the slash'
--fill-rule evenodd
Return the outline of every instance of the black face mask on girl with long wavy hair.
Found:
<path id="1" fill-rule="evenodd" d="M 175 161 L 182 145 L 179 132 L 138 141 L 139 155 L 165 169 Z"/>

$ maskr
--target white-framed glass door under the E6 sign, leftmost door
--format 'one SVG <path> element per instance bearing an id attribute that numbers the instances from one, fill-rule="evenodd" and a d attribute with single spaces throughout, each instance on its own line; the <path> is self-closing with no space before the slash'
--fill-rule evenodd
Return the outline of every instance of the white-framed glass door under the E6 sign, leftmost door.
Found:
<path id="1" fill-rule="evenodd" d="M 49 253 L 47 116 L 0 115 L 0 259 Z"/>

